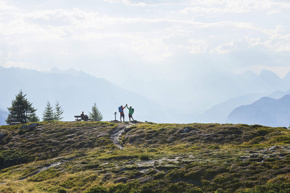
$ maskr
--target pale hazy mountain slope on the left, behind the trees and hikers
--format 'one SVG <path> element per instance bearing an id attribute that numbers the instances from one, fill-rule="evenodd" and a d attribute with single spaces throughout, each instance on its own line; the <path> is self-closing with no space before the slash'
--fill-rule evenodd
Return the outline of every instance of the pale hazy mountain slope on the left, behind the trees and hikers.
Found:
<path id="1" fill-rule="evenodd" d="M 58 70 L 54 68 L 52 71 Z M 69 72 L 75 73 L 73 69 L 70 69 Z M 1 67 L 0 80 L 6 82 L 2 85 L 3 92 L 0 95 L 3 106 L 11 106 L 11 101 L 22 89 L 23 93 L 27 94 L 26 98 L 37 108 L 36 113 L 40 118 L 46 100 L 50 100 L 50 103 L 54 105 L 57 99 L 63 106 L 65 121 L 73 121 L 74 115 L 81 114 L 81 111 L 88 115 L 94 102 L 103 113 L 104 120 L 114 120 L 114 112 L 117 112 L 117 120 L 119 120 L 118 107 L 127 103 L 135 109 L 133 118 L 136 120 L 174 121 L 167 116 L 173 110 L 118 87 L 104 78 L 96 78 L 88 74 L 75 76 L 69 73 L 43 73 L 18 67 Z M 125 120 L 128 120 L 127 114 L 127 109 L 125 109 Z"/>

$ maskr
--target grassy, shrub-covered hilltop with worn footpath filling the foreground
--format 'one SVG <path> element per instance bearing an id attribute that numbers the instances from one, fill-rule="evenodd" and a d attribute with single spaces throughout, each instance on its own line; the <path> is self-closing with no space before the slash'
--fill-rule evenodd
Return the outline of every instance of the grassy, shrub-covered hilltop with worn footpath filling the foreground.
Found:
<path id="1" fill-rule="evenodd" d="M 282 127 L 53 121 L 0 133 L 1 193 L 290 192 Z"/>

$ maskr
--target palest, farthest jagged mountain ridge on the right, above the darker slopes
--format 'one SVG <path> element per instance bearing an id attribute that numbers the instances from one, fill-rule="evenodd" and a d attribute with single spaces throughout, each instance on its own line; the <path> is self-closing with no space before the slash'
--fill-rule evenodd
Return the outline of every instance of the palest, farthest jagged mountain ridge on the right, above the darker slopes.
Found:
<path id="1" fill-rule="evenodd" d="M 280 79 L 274 72 L 268 70 L 262 70 L 259 76 L 250 70 L 238 75 L 226 71 L 205 74 L 199 82 L 200 88 L 194 90 L 193 95 L 198 93 L 199 103 L 214 106 L 243 95 L 285 91 L 289 89 L 290 74 Z"/>

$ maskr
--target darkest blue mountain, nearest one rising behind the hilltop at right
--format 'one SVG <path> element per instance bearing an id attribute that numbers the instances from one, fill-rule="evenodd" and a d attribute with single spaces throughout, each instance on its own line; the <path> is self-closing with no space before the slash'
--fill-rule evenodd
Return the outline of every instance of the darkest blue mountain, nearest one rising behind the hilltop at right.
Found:
<path id="1" fill-rule="evenodd" d="M 247 123 L 288 127 L 290 124 L 290 95 L 280 99 L 262 97 L 249 105 L 234 109 L 227 123 Z"/>

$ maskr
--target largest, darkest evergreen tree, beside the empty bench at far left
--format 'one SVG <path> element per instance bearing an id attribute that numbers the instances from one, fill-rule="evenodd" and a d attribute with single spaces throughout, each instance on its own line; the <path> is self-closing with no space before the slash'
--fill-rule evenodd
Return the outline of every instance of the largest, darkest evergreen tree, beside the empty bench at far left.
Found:
<path id="1" fill-rule="evenodd" d="M 30 115 L 35 113 L 37 109 L 34 109 L 32 102 L 29 102 L 23 95 L 22 90 L 15 95 L 15 100 L 12 100 L 11 107 L 8 107 L 8 117 L 5 120 L 7 124 L 10 124 L 9 119 L 18 119 L 20 123 L 27 123 Z"/>

